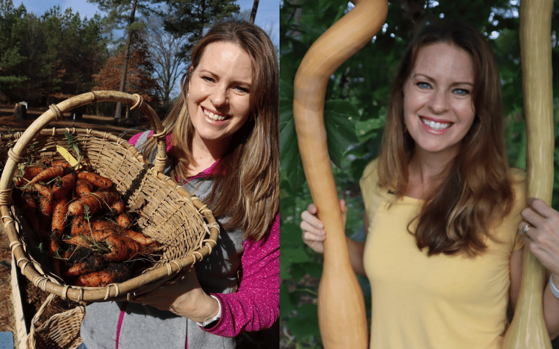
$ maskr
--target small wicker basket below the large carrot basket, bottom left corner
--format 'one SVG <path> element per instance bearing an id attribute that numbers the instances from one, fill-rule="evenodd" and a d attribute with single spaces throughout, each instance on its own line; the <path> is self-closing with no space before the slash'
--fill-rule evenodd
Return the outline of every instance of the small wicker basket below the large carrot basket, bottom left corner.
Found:
<path id="1" fill-rule="evenodd" d="M 27 336 L 28 349 L 77 348 L 82 343 L 80 326 L 85 316 L 85 306 L 76 306 L 74 309 L 52 315 L 43 325 L 35 327 L 54 297 L 51 293 L 31 320 Z"/>

